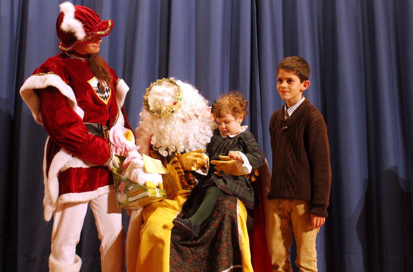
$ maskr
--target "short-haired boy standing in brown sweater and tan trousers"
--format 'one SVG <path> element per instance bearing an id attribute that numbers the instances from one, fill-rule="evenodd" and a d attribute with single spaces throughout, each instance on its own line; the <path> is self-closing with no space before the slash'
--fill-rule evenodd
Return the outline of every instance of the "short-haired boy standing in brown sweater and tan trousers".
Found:
<path id="1" fill-rule="evenodd" d="M 273 271 L 290 271 L 292 232 L 300 271 L 317 271 L 316 236 L 328 216 L 331 167 L 327 125 L 303 97 L 310 66 L 301 57 L 278 65 L 277 90 L 284 106 L 270 120 L 273 173 L 266 236 Z"/>

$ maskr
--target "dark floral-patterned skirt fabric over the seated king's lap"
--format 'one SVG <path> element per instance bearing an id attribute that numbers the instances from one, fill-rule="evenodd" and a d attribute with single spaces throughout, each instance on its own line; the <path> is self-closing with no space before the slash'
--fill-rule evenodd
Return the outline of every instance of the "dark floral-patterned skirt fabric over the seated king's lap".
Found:
<path id="1" fill-rule="evenodd" d="M 178 217 L 185 218 L 191 204 L 188 199 Z M 242 271 L 238 224 L 237 198 L 222 196 L 197 238 L 171 242 L 170 271 Z"/>

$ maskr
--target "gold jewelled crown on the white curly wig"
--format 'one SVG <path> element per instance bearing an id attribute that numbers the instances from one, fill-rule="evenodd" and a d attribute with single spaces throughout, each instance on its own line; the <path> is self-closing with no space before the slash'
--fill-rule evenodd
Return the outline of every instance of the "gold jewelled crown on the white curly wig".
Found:
<path id="1" fill-rule="evenodd" d="M 154 111 L 154 109 L 151 109 L 149 105 L 149 101 L 148 101 L 149 94 L 150 92 L 152 92 L 152 88 L 154 86 L 161 85 L 164 82 L 170 82 L 176 86 L 175 99 L 173 100 L 171 105 L 164 107 L 163 109 L 161 109 L 161 111 Z M 176 84 L 174 80 L 172 80 L 171 78 L 162 78 L 162 79 L 158 79 L 157 81 L 151 83 L 151 85 L 149 85 L 149 88 L 146 89 L 146 93 L 145 95 L 143 95 L 143 106 L 151 115 L 157 116 L 159 118 L 165 118 L 173 114 L 177 109 L 179 109 L 180 104 L 182 102 L 182 97 L 183 97 L 182 90 L 180 86 Z"/>

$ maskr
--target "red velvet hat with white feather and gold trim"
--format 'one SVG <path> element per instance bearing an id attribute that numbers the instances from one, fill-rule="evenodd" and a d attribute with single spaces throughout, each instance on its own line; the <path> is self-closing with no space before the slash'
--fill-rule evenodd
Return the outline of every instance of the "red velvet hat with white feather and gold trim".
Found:
<path id="1" fill-rule="evenodd" d="M 99 15 L 88 7 L 74 6 L 71 2 L 63 2 L 59 7 L 56 32 L 63 52 L 72 50 L 76 43 L 87 42 L 97 35 L 107 36 L 112 31 L 113 21 L 100 21 Z"/>

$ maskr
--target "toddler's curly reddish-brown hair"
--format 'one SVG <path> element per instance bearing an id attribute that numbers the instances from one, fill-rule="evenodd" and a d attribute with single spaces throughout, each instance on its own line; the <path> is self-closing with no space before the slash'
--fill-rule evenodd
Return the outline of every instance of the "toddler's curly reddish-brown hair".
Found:
<path id="1" fill-rule="evenodd" d="M 215 118 L 220 118 L 223 114 L 231 114 L 236 117 L 248 114 L 248 101 L 239 91 L 230 91 L 226 95 L 221 95 L 212 105 L 212 111 Z"/>

